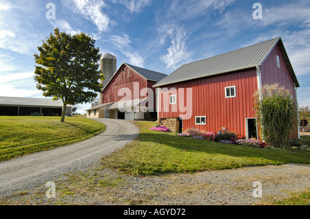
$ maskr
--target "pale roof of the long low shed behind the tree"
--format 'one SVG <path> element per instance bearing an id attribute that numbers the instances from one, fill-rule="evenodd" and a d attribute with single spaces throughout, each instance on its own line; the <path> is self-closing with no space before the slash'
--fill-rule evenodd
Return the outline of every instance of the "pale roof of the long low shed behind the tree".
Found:
<path id="1" fill-rule="evenodd" d="M 0 105 L 2 106 L 50 106 L 62 107 L 61 100 L 52 100 L 45 98 L 28 98 L 28 97 L 0 97 Z M 67 107 L 71 107 L 68 105 Z"/>

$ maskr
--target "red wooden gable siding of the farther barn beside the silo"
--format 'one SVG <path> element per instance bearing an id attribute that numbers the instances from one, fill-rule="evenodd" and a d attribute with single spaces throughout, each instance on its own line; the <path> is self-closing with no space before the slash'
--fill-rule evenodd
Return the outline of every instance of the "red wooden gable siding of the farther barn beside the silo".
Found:
<path id="1" fill-rule="evenodd" d="M 138 90 L 136 92 L 139 97 L 134 96 L 134 83 L 138 83 Z M 118 102 L 121 100 L 144 98 L 147 95 L 140 96 L 140 91 L 145 87 L 147 87 L 147 80 L 140 74 L 136 73 L 136 71 L 123 64 L 113 76 L 112 80 L 107 84 L 107 87 L 103 90 L 103 104 Z M 131 97 L 118 96 L 118 91 L 121 88 L 130 89 L 132 93 Z"/>

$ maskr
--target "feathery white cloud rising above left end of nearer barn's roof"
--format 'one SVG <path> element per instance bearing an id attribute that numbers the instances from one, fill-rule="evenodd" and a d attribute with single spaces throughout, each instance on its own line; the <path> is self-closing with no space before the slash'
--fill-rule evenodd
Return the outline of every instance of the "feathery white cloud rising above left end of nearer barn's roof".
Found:
<path id="1" fill-rule="evenodd" d="M 187 51 L 186 41 L 187 32 L 176 25 L 167 25 L 159 30 L 161 34 L 160 43 L 165 43 L 166 39 L 171 40 L 170 47 L 167 48 L 167 54 L 161 56 L 167 69 L 175 69 L 182 62 L 186 62 L 192 56 L 192 52 Z"/>

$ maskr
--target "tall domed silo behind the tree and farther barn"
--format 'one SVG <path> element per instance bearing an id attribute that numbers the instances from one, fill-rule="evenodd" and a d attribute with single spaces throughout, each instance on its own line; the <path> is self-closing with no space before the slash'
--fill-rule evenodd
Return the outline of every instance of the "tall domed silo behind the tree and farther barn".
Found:
<path id="1" fill-rule="evenodd" d="M 100 80 L 104 88 L 116 71 L 116 57 L 109 53 L 103 54 L 100 60 L 100 69 L 105 75 L 105 80 Z M 99 104 L 103 104 L 102 93 L 99 94 Z"/>

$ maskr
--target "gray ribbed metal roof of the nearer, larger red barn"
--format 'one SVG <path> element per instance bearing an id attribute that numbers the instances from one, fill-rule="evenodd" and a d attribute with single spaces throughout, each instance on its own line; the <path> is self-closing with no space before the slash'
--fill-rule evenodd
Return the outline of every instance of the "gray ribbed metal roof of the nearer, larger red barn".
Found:
<path id="1" fill-rule="evenodd" d="M 249 69 L 252 67 L 262 65 L 265 61 L 273 47 L 280 43 L 282 45 L 282 40 L 280 37 L 273 38 L 269 41 L 262 43 L 257 43 L 255 45 L 250 45 L 242 49 L 236 49 L 234 51 L 229 51 L 225 54 L 220 54 L 218 56 L 213 56 L 210 58 L 205 58 L 203 60 L 198 60 L 196 62 L 191 62 L 186 65 L 182 65 L 176 71 L 169 74 L 163 80 L 154 84 L 153 87 L 160 87 L 167 84 L 173 84 L 177 82 L 183 82 L 187 80 L 193 80 L 196 78 L 203 78 L 207 76 L 214 76 L 220 73 L 227 73 L 231 71 L 238 71 L 241 69 Z M 283 46 L 284 48 L 284 46 Z M 288 60 L 285 49 L 281 49 L 283 56 L 287 58 L 287 65 L 293 80 L 296 82 L 296 86 L 299 87 L 291 63 Z M 285 54 L 284 54 L 285 53 Z"/>

